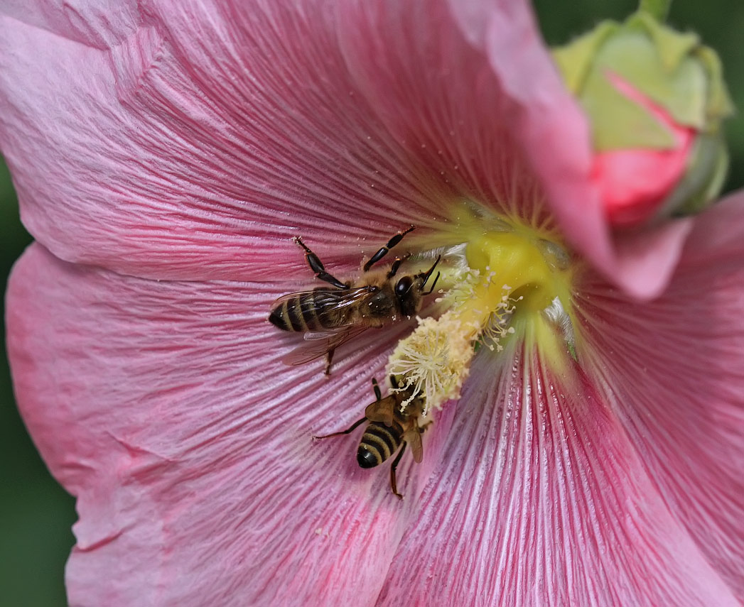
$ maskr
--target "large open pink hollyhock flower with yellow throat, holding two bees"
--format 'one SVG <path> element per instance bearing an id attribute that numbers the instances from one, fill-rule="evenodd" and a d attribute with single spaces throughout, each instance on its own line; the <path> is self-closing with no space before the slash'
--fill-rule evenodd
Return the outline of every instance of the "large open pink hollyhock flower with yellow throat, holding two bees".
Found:
<path id="1" fill-rule="evenodd" d="M 524 2 L 77 0 L 0 27 L 38 241 L 8 348 L 77 496 L 72 605 L 740 604 L 744 200 L 613 235 Z M 410 326 L 326 380 L 266 316 L 310 284 L 292 236 L 346 277 L 408 224 L 411 252 L 498 262 L 516 310 L 399 501 L 310 435 L 359 418 Z"/>

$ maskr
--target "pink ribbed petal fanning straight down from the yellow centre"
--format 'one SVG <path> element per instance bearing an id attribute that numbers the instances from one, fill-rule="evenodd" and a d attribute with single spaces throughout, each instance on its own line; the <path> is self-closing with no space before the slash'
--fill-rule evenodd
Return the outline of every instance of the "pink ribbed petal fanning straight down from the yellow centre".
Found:
<path id="1" fill-rule="evenodd" d="M 739 605 L 586 378 L 512 362 L 476 360 L 377 605 Z"/>

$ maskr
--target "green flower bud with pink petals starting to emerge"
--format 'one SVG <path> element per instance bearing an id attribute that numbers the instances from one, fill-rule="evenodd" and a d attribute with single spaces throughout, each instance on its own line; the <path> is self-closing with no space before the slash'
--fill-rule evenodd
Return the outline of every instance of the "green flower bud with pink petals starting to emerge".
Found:
<path id="1" fill-rule="evenodd" d="M 718 56 L 695 33 L 640 11 L 554 50 L 586 111 L 593 178 L 615 226 L 699 212 L 728 166 L 722 120 L 733 106 Z"/>

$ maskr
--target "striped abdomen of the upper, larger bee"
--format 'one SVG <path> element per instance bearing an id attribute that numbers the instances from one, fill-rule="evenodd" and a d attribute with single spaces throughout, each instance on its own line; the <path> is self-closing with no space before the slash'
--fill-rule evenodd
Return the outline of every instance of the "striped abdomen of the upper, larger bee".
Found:
<path id="1" fill-rule="evenodd" d="M 339 311 L 340 296 L 333 290 L 318 289 L 282 298 L 269 321 L 283 331 L 324 331 L 338 328 L 345 320 Z"/>

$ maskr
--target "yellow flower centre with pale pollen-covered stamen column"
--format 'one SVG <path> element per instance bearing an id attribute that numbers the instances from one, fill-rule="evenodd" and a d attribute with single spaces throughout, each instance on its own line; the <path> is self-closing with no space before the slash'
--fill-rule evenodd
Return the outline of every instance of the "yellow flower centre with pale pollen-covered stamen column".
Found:
<path id="1" fill-rule="evenodd" d="M 458 244 L 437 250 L 444 286 L 439 316 L 418 318 L 388 359 L 398 390 L 413 389 L 402 409 L 419 395 L 427 412 L 457 400 L 473 357 L 498 355 L 509 340 L 529 341 L 556 367 L 575 358 L 574 267 L 557 233 L 517 218 L 485 217 L 483 210 L 458 212 L 443 236 Z"/>

